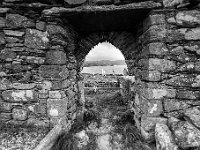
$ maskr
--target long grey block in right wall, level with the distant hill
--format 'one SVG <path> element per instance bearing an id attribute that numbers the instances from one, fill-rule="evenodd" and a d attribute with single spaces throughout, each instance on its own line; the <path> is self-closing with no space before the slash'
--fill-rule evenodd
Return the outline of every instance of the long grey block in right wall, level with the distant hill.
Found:
<path id="1" fill-rule="evenodd" d="M 138 65 L 149 70 L 157 70 L 161 72 L 168 72 L 176 69 L 175 62 L 158 58 L 141 59 L 138 62 Z"/>

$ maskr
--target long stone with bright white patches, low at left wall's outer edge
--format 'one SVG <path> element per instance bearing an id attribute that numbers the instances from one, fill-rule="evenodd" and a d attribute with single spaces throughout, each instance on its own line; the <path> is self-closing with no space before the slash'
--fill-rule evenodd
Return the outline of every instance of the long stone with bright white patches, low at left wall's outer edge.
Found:
<path id="1" fill-rule="evenodd" d="M 7 90 L 2 92 L 2 97 L 8 102 L 36 102 L 38 99 L 33 90 Z"/>

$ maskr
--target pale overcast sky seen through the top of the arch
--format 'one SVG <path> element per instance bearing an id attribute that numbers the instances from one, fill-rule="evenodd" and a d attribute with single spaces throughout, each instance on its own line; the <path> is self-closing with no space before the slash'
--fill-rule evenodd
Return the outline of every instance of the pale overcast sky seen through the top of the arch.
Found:
<path id="1" fill-rule="evenodd" d="M 124 60 L 124 56 L 112 44 L 103 42 L 95 46 L 86 56 L 86 61 L 96 60 Z"/>

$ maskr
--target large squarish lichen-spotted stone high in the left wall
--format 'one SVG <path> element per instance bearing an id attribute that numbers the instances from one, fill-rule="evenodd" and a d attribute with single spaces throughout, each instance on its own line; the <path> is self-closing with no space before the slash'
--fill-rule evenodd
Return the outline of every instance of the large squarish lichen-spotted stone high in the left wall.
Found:
<path id="1" fill-rule="evenodd" d="M 46 49 L 48 46 L 48 33 L 35 29 L 27 29 L 25 36 L 25 45 L 29 48 Z"/>

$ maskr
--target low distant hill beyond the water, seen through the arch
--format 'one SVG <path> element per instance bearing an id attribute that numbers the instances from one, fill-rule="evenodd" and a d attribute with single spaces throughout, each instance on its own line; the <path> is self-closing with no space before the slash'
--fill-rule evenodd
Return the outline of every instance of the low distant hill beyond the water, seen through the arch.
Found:
<path id="1" fill-rule="evenodd" d="M 114 65 L 126 65 L 124 60 L 101 60 L 101 61 L 86 61 L 84 67 L 91 66 L 114 66 Z"/>

